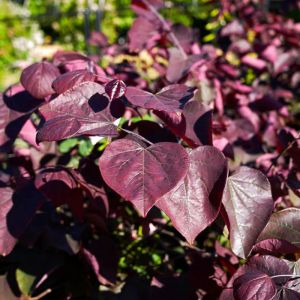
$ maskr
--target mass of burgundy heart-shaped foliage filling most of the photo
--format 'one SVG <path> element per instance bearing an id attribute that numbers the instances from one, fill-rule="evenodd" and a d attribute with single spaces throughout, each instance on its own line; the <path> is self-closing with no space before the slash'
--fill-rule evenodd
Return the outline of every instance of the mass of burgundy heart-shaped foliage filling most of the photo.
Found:
<path id="1" fill-rule="evenodd" d="M 132 1 L 1 94 L 0 298 L 300 298 L 300 28 L 257 2 L 213 44 Z"/>

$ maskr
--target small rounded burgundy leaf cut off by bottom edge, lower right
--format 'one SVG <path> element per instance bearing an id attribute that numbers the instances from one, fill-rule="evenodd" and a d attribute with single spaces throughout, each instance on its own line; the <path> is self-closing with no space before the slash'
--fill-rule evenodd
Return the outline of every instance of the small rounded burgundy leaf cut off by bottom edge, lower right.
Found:
<path id="1" fill-rule="evenodd" d="M 247 272 L 233 282 L 236 300 L 270 300 L 276 295 L 273 280 L 261 271 Z"/>

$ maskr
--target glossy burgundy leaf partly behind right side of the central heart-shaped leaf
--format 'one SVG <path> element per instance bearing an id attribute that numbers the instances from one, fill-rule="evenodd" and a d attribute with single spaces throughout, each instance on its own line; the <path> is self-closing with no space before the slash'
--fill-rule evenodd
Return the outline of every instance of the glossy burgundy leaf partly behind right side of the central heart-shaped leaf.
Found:
<path id="1" fill-rule="evenodd" d="M 195 237 L 217 217 L 227 177 L 227 160 L 212 146 L 198 147 L 189 154 L 188 173 L 156 206 L 192 244 Z"/>

